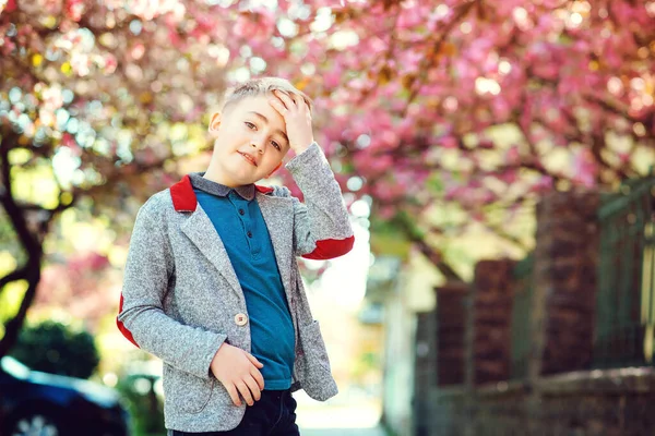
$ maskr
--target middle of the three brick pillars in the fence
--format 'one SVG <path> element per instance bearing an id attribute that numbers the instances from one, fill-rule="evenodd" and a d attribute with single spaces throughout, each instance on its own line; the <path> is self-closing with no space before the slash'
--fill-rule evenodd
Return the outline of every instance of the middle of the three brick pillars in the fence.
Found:
<path id="1" fill-rule="evenodd" d="M 510 378 L 513 270 L 510 259 L 475 267 L 473 296 L 473 383 Z"/>

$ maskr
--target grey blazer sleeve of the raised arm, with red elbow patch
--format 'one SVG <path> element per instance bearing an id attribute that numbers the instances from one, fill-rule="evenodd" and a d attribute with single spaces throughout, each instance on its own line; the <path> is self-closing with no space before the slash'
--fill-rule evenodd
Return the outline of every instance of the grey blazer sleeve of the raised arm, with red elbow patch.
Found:
<path id="1" fill-rule="evenodd" d="M 310 259 L 330 259 L 353 249 L 355 237 L 334 173 L 317 143 L 287 165 L 305 196 L 294 199 L 294 251 Z"/>

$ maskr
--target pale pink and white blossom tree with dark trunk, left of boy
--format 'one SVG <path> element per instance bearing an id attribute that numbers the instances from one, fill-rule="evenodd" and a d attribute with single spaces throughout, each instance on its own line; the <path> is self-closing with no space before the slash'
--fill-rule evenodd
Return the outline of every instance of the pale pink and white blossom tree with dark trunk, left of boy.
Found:
<path id="1" fill-rule="evenodd" d="M 11 225 L 2 237 L 17 261 L 3 265 L 0 291 L 26 283 L 0 355 L 34 300 L 61 211 L 83 205 L 114 222 L 133 217 L 175 180 L 180 157 L 206 149 L 202 116 L 217 104 L 231 60 L 218 9 L 0 1 L 0 203 Z"/>

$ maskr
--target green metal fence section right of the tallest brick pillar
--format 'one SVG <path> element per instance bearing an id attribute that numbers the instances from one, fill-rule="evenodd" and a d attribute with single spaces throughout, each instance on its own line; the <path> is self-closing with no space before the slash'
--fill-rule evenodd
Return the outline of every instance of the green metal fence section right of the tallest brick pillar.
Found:
<path id="1" fill-rule="evenodd" d="M 622 185 L 598 209 L 595 367 L 653 364 L 655 177 Z"/>

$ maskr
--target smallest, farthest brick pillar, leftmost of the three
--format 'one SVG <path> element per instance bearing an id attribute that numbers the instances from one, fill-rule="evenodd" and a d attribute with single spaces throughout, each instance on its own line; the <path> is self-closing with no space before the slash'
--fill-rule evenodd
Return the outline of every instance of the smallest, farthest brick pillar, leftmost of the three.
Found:
<path id="1" fill-rule="evenodd" d="M 437 384 L 464 384 L 466 299 L 471 287 L 453 282 L 437 288 Z"/>

